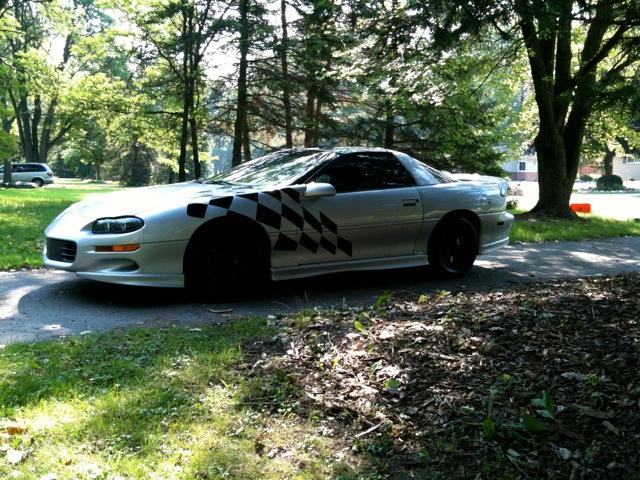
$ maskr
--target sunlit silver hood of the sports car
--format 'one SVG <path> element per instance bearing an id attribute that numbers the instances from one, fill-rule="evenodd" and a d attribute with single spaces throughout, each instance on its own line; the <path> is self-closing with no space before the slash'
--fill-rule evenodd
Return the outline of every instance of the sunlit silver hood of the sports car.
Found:
<path id="1" fill-rule="evenodd" d="M 95 219 L 142 215 L 144 212 L 186 207 L 194 201 L 255 191 L 251 187 L 211 185 L 197 182 L 142 187 L 91 195 L 73 204 L 65 213 Z"/>

